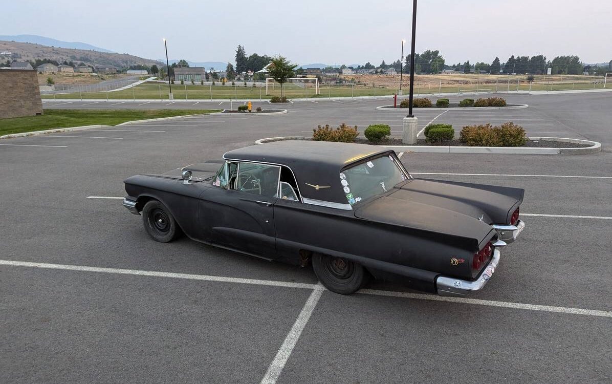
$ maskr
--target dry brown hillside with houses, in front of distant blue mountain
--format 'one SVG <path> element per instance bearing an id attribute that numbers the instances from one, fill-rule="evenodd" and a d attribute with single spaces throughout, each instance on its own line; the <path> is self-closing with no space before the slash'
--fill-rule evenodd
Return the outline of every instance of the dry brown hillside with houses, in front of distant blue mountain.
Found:
<path id="1" fill-rule="evenodd" d="M 84 64 L 94 67 L 114 66 L 119 69 L 137 65 L 147 67 L 153 64 L 157 64 L 157 66 L 162 65 L 159 61 L 139 58 L 127 53 L 48 47 L 47 45 L 12 41 L 0 41 L 0 52 L 3 51 L 9 51 L 12 55 L 0 55 L 0 62 L 6 62 L 7 60 L 34 61 L 35 59 L 50 59 L 58 62 L 73 61 L 75 64 L 84 62 Z"/>

